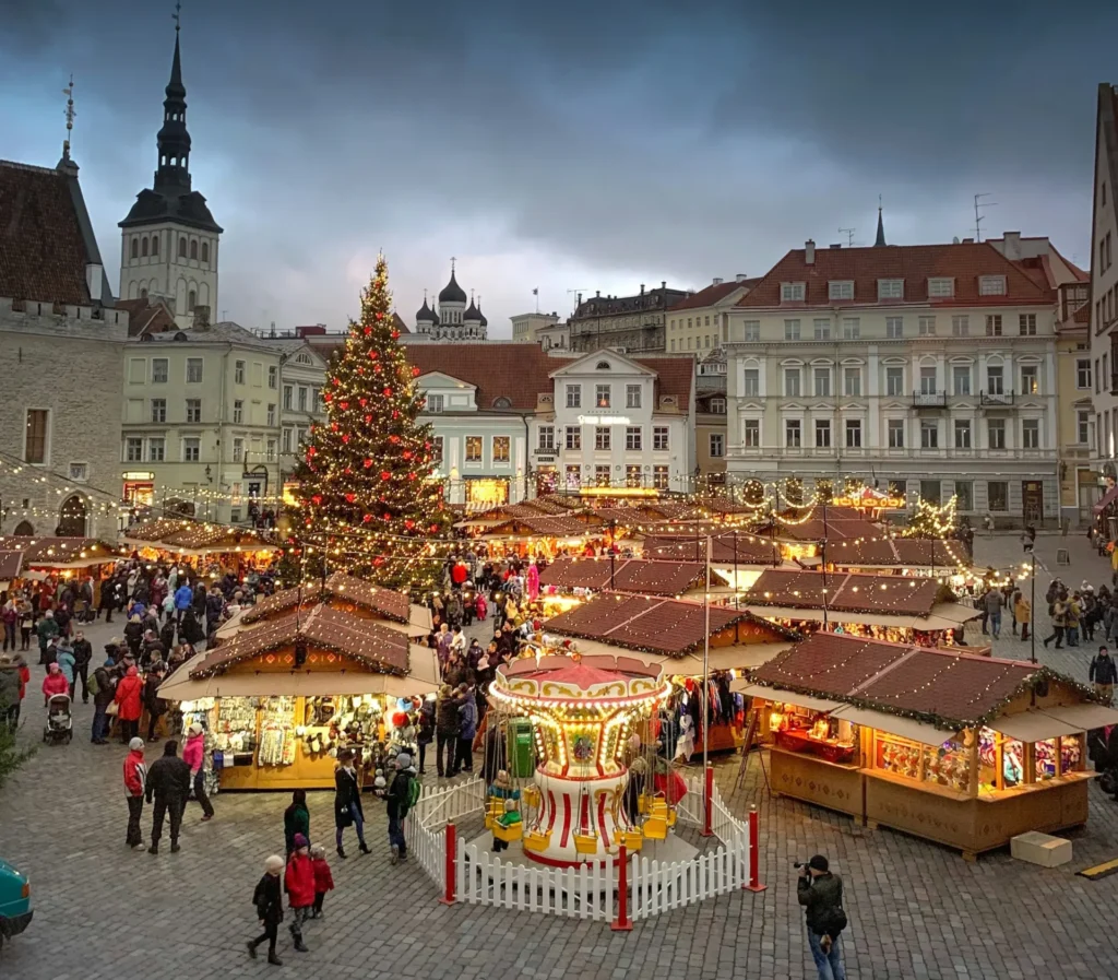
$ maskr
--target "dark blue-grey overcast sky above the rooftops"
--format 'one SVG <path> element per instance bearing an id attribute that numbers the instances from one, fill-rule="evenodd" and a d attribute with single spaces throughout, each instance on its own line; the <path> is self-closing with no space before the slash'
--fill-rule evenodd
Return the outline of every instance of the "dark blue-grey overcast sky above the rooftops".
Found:
<path id="1" fill-rule="evenodd" d="M 158 0 L 0 0 L 0 156 L 73 154 L 116 281 L 174 41 Z M 344 326 L 375 257 L 408 323 L 448 279 L 508 317 L 568 291 L 760 275 L 807 237 L 1049 235 L 1090 263 L 1118 3 L 187 0 L 215 315 Z"/>

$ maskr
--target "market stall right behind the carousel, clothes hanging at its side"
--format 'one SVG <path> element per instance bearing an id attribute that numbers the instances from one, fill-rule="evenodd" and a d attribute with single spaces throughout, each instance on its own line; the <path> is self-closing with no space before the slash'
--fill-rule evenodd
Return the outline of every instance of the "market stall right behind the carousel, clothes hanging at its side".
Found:
<path id="1" fill-rule="evenodd" d="M 637 657 L 663 665 L 676 704 L 694 720 L 695 751 L 702 752 L 698 698 L 710 698 L 711 751 L 733 750 L 742 737 L 743 705 L 730 686 L 746 670 L 773 659 L 799 635 L 746 610 L 710 607 L 701 602 L 606 592 L 543 624 L 544 637 L 578 640 L 582 653 Z M 708 689 L 702 690 L 703 647 L 710 638 Z"/>

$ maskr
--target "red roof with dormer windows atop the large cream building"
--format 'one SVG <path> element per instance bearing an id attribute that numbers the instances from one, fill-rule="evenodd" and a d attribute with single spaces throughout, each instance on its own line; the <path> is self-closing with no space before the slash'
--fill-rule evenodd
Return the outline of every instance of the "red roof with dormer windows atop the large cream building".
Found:
<path id="1" fill-rule="evenodd" d="M 918 302 L 932 307 L 1021 305 L 1051 303 L 1051 290 L 1034 282 L 993 245 L 887 245 L 874 248 L 816 248 L 815 262 L 808 265 L 803 248 L 794 248 L 738 303 L 738 309 L 864 305 L 879 302 L 896 307 Z M 1005 276 L 1004 295 L 979 295 L 983 275 Z M 955 295 L 929 298 L 929 279 L 954 279 Z M 901 300 L 878 300 L 879 279 L 904 281 Z M 828 299 L 827 283 L 854 282 L 853 300 Z M 780 284 L 805 283 L 805 302 L 781 303 Z"/>

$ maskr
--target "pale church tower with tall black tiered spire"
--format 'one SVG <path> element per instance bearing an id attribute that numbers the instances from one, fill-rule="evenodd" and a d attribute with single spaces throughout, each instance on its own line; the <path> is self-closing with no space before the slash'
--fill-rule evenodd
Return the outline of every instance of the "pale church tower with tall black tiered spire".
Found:
<path id="1" fill-rule="evenodd" d="M 162 299 L 186 329 L 195 310 L 216 319 L 218 239 L 206 198 L 190 187 L 190 133 L 187 89 L 179 58 L 179 20 L 174 15 L 174 58 L 163 100 L 163 126 L 157 136 L 159 168 L 150 189 L 120 223 L 121 299 Z"/>

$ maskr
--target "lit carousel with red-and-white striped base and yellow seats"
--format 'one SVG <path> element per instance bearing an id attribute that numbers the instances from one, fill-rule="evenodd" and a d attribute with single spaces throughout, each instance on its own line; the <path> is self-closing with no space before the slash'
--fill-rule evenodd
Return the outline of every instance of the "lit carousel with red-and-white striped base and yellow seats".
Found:
<path id="1" fill-rule="evenodd" d="M 627 657 L 575 652 L 498 668 L 490 686 L 498 738 L 509 742 L 512 775 L 530 772 L 531 782 L 491 789 L 494 840 L 556 867 L 601 865 L 622 844 L 633 851 L 667 840 L 685 792 L 653 737 L 670 692 L 660 665 Z M 674 836 L 673 845 L 673 854 L 693 850 Z"/>

